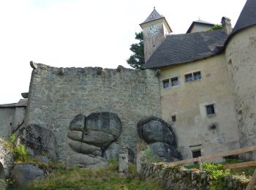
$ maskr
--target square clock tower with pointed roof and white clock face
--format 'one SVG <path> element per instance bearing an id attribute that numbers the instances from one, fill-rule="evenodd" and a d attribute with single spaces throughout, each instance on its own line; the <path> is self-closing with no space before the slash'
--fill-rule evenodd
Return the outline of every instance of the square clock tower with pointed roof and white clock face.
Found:
<path id="1" fill-rule="evenodd" d="M 155 8 L 148 18 L 140 24 L 140 27 L 143 29 L 144 56 L 145 61 L 147 61 L 165 40 L 165 35 L 170 34 L 172 30 L 165 17 L 160 15 Z"/>

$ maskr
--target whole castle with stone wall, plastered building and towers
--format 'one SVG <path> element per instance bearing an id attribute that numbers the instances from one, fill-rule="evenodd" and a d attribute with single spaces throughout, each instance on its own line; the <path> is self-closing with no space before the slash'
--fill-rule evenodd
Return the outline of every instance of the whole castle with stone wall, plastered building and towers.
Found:
<path id="1" fill-rule="evenodd" d="M 103 112 L 117 115 L 111 122 L 121 121 L 120 137 L 110 152 L 128 147 L 136 156 L 137 124 L 149 116 L 171 124 L 183 159 L 255 145 L 255 9 L 256 1 L 247 0 L 233 29 L 228 18 L 222 18 L 217 31 L 197 20 L 187 34 L 170 34 L 167 20 L 154 9 L 140 24 L 146 59 L 142 70 L 31 62 L 25 99 L 0 105 L 1 139 L 8 140 L 17 126 L 37 124 L 55 134 L 57 159 L 73 161 L 72 122 L 83 126 L 92 113 Z M 99 158 L 88 159 L 96 163 Z M 1 155 L 0 176 L 8 172 L 8 163 Z"/>

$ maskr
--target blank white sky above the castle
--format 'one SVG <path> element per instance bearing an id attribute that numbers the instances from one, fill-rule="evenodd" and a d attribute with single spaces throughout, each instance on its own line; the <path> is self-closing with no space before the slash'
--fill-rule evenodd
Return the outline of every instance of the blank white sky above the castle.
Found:
<path id="1" fill-rule="evenodd" d="M 29 91 L 29 61 L 50 66 L 129 67 L 135 31 L 155 6 L 174 34 L 199 17 L 236 23 L 246 0 L 0 0 L 0 104 Z"/>

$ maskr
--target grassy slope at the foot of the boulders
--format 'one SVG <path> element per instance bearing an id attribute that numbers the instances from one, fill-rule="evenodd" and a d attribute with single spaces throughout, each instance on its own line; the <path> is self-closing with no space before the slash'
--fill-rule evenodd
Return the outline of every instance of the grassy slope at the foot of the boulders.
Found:
<path id="1" fill-rule="evenodd" d="M 17 188 L 16 188 L 17 189 Z M 22 188 L 20 188 L 22 189 Z M 104 168 L 53 170 L 44 180 L 36 180 L 23 189 L 162 189 L 155 180 L 145 180 L 134 165 L 129 173 L 120 176 L 118 164 L 110 163 Z"/>

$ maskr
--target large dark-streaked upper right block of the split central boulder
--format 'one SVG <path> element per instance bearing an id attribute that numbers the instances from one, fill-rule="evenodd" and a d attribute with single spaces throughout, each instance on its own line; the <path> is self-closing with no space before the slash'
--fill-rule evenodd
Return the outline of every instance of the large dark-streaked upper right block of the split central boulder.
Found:
<path id="1" fill-rule="evenodd" d="M 121 121 L 115 113 L 91 113 L 86 118 L 86 130 L 112 134 L 116 139 L 121 134 Z"/>

